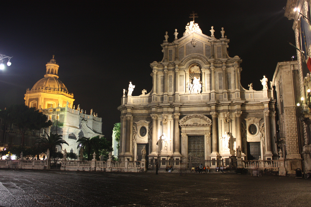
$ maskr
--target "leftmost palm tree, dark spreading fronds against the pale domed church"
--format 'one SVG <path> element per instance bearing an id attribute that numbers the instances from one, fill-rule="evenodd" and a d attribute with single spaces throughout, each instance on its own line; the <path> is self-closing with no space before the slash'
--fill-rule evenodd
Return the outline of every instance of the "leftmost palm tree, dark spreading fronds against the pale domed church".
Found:
<path id="1" fill-rule="evenodd" d="M 45 132 L 47 137 L 39 137 L 37 139 L 38 145 L 44 145 L 46 149 L 50 149 L 50 151 L 54 152 L 56 146 L 62 147 L 62 144 L 68 145 L 68 143 L 62 139 L 63 135 L 53 134 L 52 131 L 50 132 L 50 135 Z"/>

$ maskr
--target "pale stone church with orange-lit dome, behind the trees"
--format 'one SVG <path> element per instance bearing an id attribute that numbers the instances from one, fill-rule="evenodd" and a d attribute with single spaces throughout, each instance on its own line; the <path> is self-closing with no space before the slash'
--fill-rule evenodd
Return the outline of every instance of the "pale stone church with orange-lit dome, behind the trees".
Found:
<path id="1" fill-rule="evenodd" d="M 102 118 L 97 117 L 93 109 L 90 114 L 86 114 L 86 110 L 80 108 L 80 105 L 77 108 L 73 105 L 73 94 L 69 93 L 67 87 L 58 79 L 58 68 L 59 65 L 53 56 L 46 64 L 44 78 L 37 81 L 31 89 L 27 89 L 25 104 L 39 109 L 53 122 L 52 127 L 40 131 L 40 136 L 46 136 L 44 132 L 49 133 L 49 131 L 62 134 L 63 140 L 68 143 L 68 146 L 64 145 L 63 149 L 77 154 L 79 138 L 101 135 Z M 58 147 L 56 150 L 61 149 Z"/>

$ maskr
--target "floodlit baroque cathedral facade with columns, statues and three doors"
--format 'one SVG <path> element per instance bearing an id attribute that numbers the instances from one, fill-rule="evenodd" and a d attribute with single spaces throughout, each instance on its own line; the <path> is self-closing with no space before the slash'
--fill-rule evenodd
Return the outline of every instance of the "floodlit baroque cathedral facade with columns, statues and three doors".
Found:
<path id="1" fill-rule="evenodd" d="M 218 160 L 238 155 L 244 160 L 278 159 L 275 98 L 263 77 L 263 90 L 240 84 L 242 60 L 229 57 L 229 39 L 202 34 L 194 21 L 183 36 L 161 44 L 163 59 L 150 64 L 153 87 L 132 96 L 123 90 L 120 160 L 179 160 L 194 156 Z M 269 86 L 268 86 L 269 85 Z M 237 153 L 238 152 L 238 153 Z"/>

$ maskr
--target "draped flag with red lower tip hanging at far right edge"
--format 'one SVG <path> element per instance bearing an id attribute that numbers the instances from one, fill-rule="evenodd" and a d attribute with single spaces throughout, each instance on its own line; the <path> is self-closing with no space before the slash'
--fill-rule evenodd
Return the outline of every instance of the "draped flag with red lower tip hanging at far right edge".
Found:
<path id="1" fill-rule="evenodd" d="M 311 72 L 311 58 L 308 56 L 308 48 L 311 44 L 311 26 L 301 18 L 301 46 L 304 52 L 304 59 Z"/>

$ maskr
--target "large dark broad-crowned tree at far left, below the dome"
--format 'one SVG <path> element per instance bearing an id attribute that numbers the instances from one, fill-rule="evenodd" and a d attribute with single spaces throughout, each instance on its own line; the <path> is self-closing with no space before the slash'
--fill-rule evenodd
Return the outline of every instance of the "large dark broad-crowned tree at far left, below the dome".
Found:
<path id="1" fill-rule="evenodd" d="M 11 105 L 7 110 L 0 111 L 0 117 L 18 128 L 21 133 L 22 147 L 24 146 L 27 130 L 40 130 L 52 125 L 46 115 L 24 104 Z"/>

